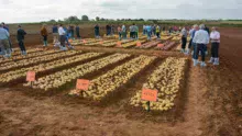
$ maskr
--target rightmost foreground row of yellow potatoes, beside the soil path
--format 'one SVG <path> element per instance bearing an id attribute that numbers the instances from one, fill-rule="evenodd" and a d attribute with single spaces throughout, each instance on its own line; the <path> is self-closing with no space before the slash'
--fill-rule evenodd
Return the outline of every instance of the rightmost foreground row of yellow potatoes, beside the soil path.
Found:
<path id="1" fill-rule="evenodd" d="M 186 58 L 167 58 L 148 77 L 143 89 L 157 90 L 157 101 L 151 102 L 151 110 L 167 111 L 174 106 L 174 100 L 182 89 L 185 78 Z M 133 106 L 146 107 L 146 101 L 141 100 L 142 89 L 130 101 Z"/>

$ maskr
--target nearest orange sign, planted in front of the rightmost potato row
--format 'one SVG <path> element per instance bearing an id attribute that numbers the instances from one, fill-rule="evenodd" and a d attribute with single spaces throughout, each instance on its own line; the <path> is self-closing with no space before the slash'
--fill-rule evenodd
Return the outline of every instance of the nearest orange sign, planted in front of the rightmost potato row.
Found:
<path id="1" fill-rule="evenodd" d="M 145 101 L 157 101 L 158 91 L 157 90 L 151 90 L 151 89 L 143 89 L 141 99 Z"/>

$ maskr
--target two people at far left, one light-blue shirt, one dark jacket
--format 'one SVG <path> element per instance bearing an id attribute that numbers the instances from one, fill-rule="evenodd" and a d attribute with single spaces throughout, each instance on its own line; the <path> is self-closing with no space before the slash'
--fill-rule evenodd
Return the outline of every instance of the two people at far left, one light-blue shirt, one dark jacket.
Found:
<path id="1" fill-rule="evenodd" d="M 21 49 L 22 55 L 26 55 L 26 49 L 24 46 L 24 36 L 26 35 L 26 32 L 21 27 L 21 25 L 18 25 L 16 31 L 16 39 Z M 13 53 L 12 43 L 10 39 L 10 33 L 9 27 L 4 24 L 0 24 L 0 55 L 2 55 L 4 58 L 10 58 Z"/>

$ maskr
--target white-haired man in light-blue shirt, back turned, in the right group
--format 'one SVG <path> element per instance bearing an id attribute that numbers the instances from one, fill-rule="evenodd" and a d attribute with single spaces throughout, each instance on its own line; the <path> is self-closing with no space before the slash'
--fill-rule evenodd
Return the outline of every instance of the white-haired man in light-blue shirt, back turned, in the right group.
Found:
<path id="1" fill-rule="evenodd" d="M 195 33 L 194 39 L 193 42 L 196 44 L 197 49 L 196 49 L 196 58 L 194 59 L 194 66 L 197 66 L 198 64 L 198 54 L 199 52 L 201 52 L 201 67 L 206 67 L 206 63 L 205 63 L 205 49 L 206 49 L 206 45 L 209 44 L 209 35 L 208 32 L 205 31 L 205 25 L 200 24 L 199 25 L 200 30 L 197 31 Z"/>

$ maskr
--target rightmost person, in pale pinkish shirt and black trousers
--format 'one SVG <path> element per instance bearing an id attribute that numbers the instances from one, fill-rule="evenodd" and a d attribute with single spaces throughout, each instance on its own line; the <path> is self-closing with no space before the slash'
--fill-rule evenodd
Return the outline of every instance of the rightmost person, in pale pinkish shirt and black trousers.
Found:
<path id="1" fill-rule="evenodd" d="M 211 58 L 209 63 L 213 65 L 219 65 L 220 33 L 217 31 L 217 27 L 212 27 L 210 38 L 211 38 Z"/>

